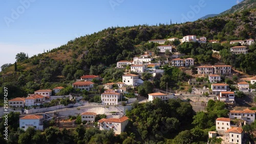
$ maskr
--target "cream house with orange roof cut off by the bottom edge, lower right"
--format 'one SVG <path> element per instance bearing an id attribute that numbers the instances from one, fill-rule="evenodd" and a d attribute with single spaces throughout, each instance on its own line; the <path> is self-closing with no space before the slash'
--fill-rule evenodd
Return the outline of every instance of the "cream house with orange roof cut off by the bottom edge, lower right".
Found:
<path id="1" fill-rule="evenodd" d="M 225 131 L 225 133 L 227 133 L 224 139 L 225 142 L 242 144 L 244 137 L 244 130 L 242 128 L 233 127 Z"/>

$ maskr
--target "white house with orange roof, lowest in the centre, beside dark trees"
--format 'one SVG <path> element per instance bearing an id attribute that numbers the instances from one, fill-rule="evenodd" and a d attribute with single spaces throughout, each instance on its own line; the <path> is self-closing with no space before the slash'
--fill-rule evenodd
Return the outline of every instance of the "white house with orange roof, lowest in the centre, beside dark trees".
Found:
<path id="1" fill-rule="evenodd" d="M 115 134 L 121 134 L 128 124 L 129 118 L 123 116 L 120 118 L 102 118 L 98 121 L 100 130 L 111 130 L 113 129 Z"/>

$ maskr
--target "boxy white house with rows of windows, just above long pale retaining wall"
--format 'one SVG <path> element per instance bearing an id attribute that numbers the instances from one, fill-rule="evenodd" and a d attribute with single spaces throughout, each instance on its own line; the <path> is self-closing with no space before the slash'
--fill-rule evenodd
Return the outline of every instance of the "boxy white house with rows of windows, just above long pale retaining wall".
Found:
<path id="1" fill-rule="evenodd" d="M 120 99 L 120 93 L 115 91 L 106 90 L 101 93 L 102 105 L 118 105 L 118 99 Z"/>

